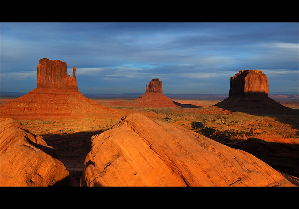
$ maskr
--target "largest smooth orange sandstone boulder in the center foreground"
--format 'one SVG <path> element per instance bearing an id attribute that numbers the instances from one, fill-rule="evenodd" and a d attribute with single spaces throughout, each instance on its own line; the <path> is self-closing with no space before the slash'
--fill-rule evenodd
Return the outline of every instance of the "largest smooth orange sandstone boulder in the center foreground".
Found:
<path id="1" fill-rule="evenodd" d="M 242 150 L 131 113 L 91 138 L 82 186 L 296 186 Z"/>

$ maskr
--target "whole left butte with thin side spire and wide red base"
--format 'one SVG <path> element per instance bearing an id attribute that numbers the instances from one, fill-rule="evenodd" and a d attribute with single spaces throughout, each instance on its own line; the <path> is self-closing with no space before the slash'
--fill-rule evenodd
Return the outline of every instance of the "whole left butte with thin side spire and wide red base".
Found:
<path id="1" fill-rule="evenodd" d="M 104 107 L 78 91 L 76 67 L 72 78 L 65 62 L 40 59 L 37 88 L 1 105 L 1 117 L 13 119 L 65 119 L 97 117 L 117 110 Z"/>

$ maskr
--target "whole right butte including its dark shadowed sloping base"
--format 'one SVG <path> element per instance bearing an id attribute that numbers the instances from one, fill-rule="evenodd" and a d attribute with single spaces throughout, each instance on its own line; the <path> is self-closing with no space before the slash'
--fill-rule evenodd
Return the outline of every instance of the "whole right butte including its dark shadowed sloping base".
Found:
<path id="1" fill-rule="evenodd" d="M 240 70 L 230 78 L 229 97 L 214 106 L 233 111 L 276 112 L 290 109 L 272 100 L 268 93 L 268 78 L 261 70 Z"/>

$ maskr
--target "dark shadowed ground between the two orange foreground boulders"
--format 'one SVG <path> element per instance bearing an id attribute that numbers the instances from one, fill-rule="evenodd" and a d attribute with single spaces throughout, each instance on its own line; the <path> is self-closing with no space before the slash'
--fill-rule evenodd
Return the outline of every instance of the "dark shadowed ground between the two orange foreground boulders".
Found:
<path id="1" fill-rule="evenodd" d="M 101 134 L 104 130 L 83 131 L 76 133 L 45 134 L 43 140 L 52 146 L 58 159 L 69 171 L 69 178 L 72 186 L 80 186 L 80 177 L 84 168 L 86 155 L 91 149 L 90 138 L 93 135 Z M 59 182 L 55 186 L 61 186 Z M 66 185 L 63 185 L 66 186 Z"/>

